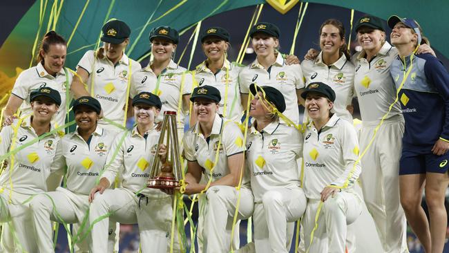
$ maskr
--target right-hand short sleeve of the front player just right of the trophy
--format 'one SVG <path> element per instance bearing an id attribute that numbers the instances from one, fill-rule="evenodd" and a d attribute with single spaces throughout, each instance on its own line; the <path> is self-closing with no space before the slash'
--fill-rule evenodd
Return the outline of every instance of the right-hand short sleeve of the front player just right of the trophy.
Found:
<path id="1" fill-rule="evenodd" d="M 225 148 L 226 156 L 232 156 L 236 153 L 242 153 L 245 151 L 243 133 L 240 131 L 237 124 L 231 121 L 227 121 L 224 124 L 222 144 Z"/>

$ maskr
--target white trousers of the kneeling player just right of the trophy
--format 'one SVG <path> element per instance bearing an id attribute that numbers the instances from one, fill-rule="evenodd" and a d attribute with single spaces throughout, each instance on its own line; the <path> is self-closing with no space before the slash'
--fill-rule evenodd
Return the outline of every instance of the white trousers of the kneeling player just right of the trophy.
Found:
<path id="1" fill-rule="evenodd" d="M 231 250 L 231 231 L 233 216 L 236 212 L 238 200 L 236 187 L 216 185 L 206 191 L 203 208 L 200 207 L 200 218 L 202 218 L 204 253 L 227 253 Z M 254 196 L 250 189 L 240 188 L 240 206 L 238 208 L 237 220 L 246 219 L 253 214 Z M 239 223 L 236 223 L 237 228 Z M 234 235 L 238 236 L 238 229 L 234 229 Z M 236 236 L 234 236 L 236 238 Z M 232 240 L 234 250 L 238 249 L 240 242 Z"/>

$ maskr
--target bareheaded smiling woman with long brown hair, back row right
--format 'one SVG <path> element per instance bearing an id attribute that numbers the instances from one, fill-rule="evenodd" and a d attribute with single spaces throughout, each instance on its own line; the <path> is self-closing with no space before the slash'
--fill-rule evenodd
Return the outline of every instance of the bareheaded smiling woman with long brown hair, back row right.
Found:
<path id="1" fill-rule="evenodd" d="M 301 63 L 307 84 L 325 82 L 336 93 L 334 110 L 339 118 L 352 123 L 352 96 L 354 95 L 354 65 L 345 41 L 341 21 L 327 19 L 320 28 L 321 53 L 315 60 Z M 307 115 L 307 111 L 305 113 Z M 305 122 L 307 122 L 305 117 Z"/>

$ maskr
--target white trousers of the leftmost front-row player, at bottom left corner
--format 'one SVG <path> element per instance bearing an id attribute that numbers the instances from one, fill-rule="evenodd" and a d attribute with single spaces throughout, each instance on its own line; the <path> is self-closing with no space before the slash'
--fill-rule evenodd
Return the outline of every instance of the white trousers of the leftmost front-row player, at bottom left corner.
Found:
<path id="1" fill-rule="evenodd" d="M 1 252 L 37 252 L 37 243 L 30 212 L 30 203 L 22 204 L 31 195 L 5 189 L 0 194 Z"/>

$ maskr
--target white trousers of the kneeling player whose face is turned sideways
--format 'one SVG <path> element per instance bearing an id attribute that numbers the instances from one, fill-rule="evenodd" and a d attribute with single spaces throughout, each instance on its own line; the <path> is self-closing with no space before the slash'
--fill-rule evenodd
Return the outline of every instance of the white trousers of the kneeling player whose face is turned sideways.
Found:
<path id="1" fill-rule="evenodd" d="M 306 205 L 303 189 L 267 191 L 262 196 L 262 203 L 254 206 L 256 252 L 289 252 L 293 234 L 287 233 L 287 226 L 294 229 L 294 222 L 303 216 Z"/>

